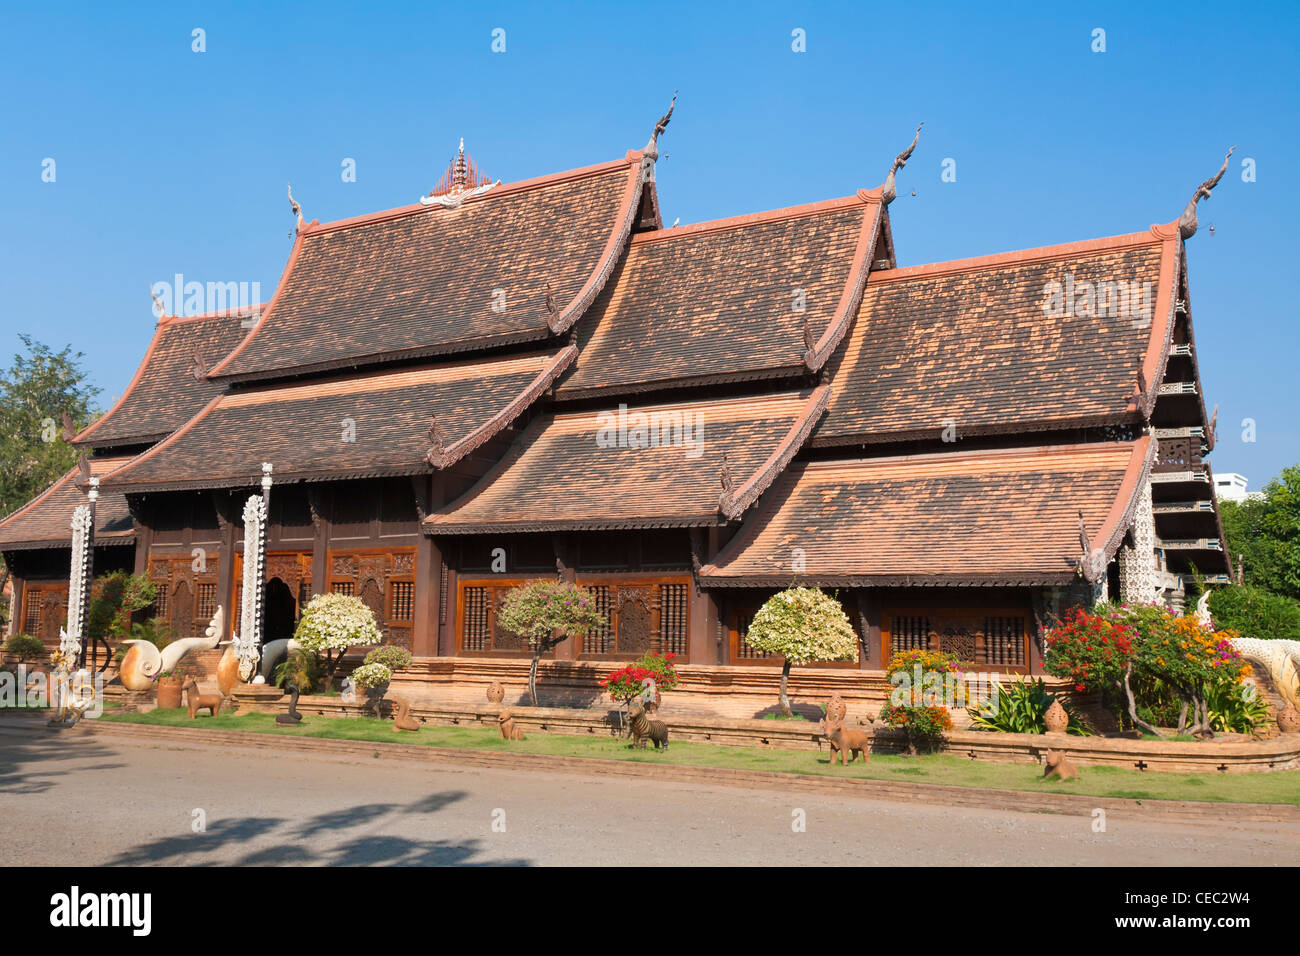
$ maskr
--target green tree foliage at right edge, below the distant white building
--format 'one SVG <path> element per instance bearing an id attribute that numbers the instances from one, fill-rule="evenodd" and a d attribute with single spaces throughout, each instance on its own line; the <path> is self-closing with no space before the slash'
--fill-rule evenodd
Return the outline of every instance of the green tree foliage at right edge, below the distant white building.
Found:
<path id="1" fill-rule="evenodd" d="M 1243 583 L 1300 600 L 1300 464 L 1283 468 L 1264 497 L 1219 502 L 1223 535 Z"/>

